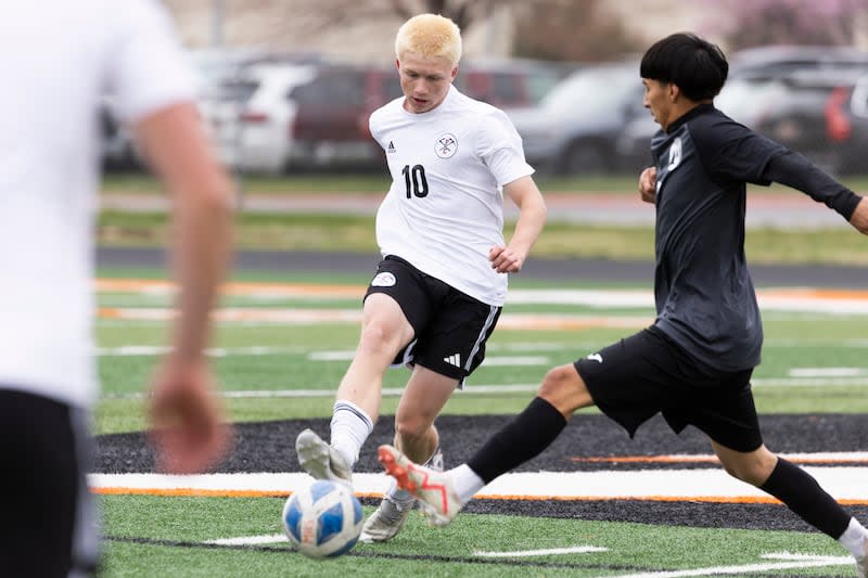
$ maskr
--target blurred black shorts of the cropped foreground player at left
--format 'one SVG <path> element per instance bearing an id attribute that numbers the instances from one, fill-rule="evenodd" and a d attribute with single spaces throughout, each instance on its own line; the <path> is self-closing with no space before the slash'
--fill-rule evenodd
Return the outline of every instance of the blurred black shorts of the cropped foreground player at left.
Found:
<path id="1" fill-rule="evenodd" d="M 0 387 L 0 574 L 84 576 L 98 562 L 87 413 Z"/>

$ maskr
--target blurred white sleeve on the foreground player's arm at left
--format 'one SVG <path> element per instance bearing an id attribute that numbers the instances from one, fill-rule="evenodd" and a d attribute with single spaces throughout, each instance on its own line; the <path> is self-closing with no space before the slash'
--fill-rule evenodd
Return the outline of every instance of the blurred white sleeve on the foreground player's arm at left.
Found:
<path id="1" fill-rule="evenodd" d="M 106 72 L 106 90 L 124 121 L 196 98 L 195 75 L 171 18 L 153 0 L 127 0 L 115 14 L 117 36 Z"/>

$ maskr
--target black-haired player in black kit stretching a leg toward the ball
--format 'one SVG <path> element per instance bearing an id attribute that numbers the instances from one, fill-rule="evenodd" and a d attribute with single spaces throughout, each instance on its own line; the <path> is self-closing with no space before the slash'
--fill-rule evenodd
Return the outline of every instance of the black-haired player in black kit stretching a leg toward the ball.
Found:
<path id="1" fill-rule="evenodd" d="M 548 447 L 579 408 L 596 404 L 630 437 L 662 412 L 676 433 L 700 428 L 730 475 L 839 540 L 865 576 L 866 529 L 763 444 L 750 383 L 763 327 L 744 256 L 744 213 L 746 183 L 779 182 L 868 234 L 868 201 L 717 111 L 713 99 L 727 72 L 720 50 L 690 34 L 659 41 L 641 61 L 644 106 L 662 129 L 651 143 L 655 166 L 639 178 L 641 200 L 656 205 L 653 325 L 550 370 L 524 412 L 454 470 L 433 472 L 380 448 L 387 472 L 435 524 L 449 523 L 486 484 Z"/>

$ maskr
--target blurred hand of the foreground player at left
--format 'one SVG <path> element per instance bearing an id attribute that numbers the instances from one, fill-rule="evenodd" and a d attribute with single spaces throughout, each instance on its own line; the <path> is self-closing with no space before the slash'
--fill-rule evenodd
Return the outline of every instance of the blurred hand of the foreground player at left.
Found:
<path id="1" fill-rule="evenodd" d="M 204 361 L 167 358 L 154 382 L 150 407 L 151 439 L 157 467 L 193 474 L 215 466 L 231 446 L 231 427 L 224 423 Z"/>

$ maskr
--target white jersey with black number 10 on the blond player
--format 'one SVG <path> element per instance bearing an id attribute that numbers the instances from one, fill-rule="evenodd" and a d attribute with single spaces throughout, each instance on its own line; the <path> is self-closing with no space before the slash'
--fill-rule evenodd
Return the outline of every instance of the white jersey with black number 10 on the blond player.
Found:
<path id="1" fill-rule="evenodd" d="M 503 244 L 502 187 L 534 172 L 507 115 L 450 87 L 426 113 L 407 112 L 403 97 L 390 102 L 371 115 L 370 129 L 392 174 L 376 213 L 383 256 L 503 305 L 507 275 L 488 261 Z"/>

